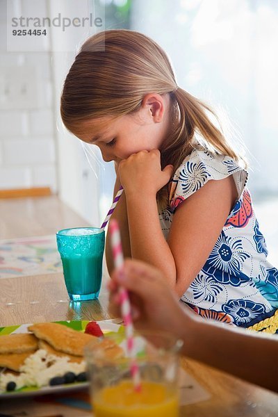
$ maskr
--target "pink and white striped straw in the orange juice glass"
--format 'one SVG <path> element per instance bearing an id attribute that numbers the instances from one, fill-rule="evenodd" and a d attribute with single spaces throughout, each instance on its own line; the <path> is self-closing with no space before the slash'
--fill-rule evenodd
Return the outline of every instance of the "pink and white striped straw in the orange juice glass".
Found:
<path id="1" fill-rule="evenodd" d="M 124 256 L 122 254 L 122 243 L 120 237 L 120 229 L 117 220 L 111 220 L 109 223 L 109 231 L 111 232 L 111 243 L 115 268 L 122 268 Z M 136 362 L 135 343 L 133 338 L 133 322 L 131 318 L 131 305 L 129 295 L 125 288 L 120 287 L 120 300 L 122 309 L 122 318 L 126 331 L 127 351 L 131 357 L 131 376 L 136 391 L 141 390 L 140 373 L 138 363 Z"/>

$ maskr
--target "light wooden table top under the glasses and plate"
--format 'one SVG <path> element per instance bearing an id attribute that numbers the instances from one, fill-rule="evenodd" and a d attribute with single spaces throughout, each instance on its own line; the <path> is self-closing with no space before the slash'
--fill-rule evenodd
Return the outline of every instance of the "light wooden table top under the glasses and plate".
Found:
<path id="1" fill-rule="evenodd" d="M 55 195 L 0 201 L 2 239 L 55 234 L 58 229 L 79 226 L 90 224 L 60 202 Z M 99 300 L 82 303 L 70 303 L 62 274 L 0 279 L 0 326 L 53 320 L 111 318 L 105 286 L 108 277 L 104 275 L 106 278 Z M 182 417 L 278 416 L 278 395 L 275 393 L 195 361 L 183 359 L 182 365 L 211 393 L 210 400 L 182 407 Z M 45 417 L 45 413 L 41 415 Z M 90 416 L 90 413 L 85 415 Z M 28 416 L 33 416 L 32 412 Z M 65 417 L 76 416 L 73 411 L 65 414 Z"/>

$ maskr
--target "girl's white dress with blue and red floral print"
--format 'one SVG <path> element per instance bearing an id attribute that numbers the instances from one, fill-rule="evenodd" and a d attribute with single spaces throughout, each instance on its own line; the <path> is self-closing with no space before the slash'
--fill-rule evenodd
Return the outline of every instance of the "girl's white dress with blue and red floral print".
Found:
<path id="1" fill-rule="evenodd" d="M 181 297 L 200 316 L 249 327 L 278 308 L 278 270 L 246 188 L 248 174 L 231 157 L 195 149 L 169 183 L 169 205 L 159 213 L 167 240 L 177 206 L 211 179 L 232 175 L 238 200 L 202 270 Z"/>

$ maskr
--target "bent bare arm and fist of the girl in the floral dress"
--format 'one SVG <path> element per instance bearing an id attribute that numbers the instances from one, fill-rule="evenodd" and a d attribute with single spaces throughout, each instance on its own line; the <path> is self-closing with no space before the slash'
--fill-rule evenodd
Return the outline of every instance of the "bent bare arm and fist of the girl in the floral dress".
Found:
<path id="1" fill-rule="evenodd" d="M 236 200 L 233 177 L 210 180 L 184 200 L 174 213 L 167 241 L 161 231 L 157 191 L 172 174 L 161 171 L 157 149 L 129 156 L 119 165 L 126 192 L 133 259 L 156 266 L 181 297 L 208 259 Z"/>

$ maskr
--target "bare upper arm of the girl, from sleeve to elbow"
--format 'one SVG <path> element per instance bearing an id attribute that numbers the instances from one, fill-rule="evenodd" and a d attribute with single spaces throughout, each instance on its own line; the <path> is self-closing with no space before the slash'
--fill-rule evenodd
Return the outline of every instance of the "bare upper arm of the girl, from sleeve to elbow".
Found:
<path id="1" fill-rule="evenodd" d="M 208 181 L 178 206 L 168 236 L 177 268 L 178 295 L 183 295 L 206 263 L 237 198 L 230 175 Z"/>

